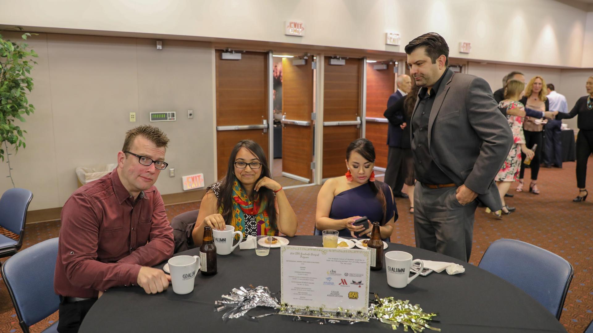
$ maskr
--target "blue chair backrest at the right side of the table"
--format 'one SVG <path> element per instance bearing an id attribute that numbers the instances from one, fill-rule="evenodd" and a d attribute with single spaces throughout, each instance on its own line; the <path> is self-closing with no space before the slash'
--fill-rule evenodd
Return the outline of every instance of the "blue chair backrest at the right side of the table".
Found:
<path id="1" fill-rule="evenodd" d="M 514 284 L 560 319 L 572 265 L 559 255 L 516 239 L 490 244 L 478 267 Z"/>

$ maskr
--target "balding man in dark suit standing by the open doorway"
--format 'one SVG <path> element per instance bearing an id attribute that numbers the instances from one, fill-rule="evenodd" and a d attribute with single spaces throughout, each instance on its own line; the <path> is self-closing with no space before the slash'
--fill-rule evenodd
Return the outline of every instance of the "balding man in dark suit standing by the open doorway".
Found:
<path id="1" fill-rule="evenodd" d="M 397 91 L 391 94 L 387 100 L 387 107 L 396 104 L 397 100 L 407 95 L 412 89 L 412 79 L 409 75 L 397 76 Z M 389 123 L 387 129 L 387 168 L 385 169 L 385 182 L 391 187 L 394 197 L 407 198 L 407 194 L 401 189 L 404 187 L 403 175 L 403 154 L 401 153 L 401 133 L 403 129 L 400 123 Z"/>

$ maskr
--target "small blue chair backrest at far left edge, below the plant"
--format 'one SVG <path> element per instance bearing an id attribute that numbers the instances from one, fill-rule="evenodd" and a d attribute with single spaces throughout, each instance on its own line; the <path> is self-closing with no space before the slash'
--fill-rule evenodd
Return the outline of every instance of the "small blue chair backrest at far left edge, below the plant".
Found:
<path id="1" fill-rule="evenodd" d="M 10 188 L 4 192 L 0 198 L 0 226 L 20 235 L 31 199 L 33 193 L 24 188 Z"/>

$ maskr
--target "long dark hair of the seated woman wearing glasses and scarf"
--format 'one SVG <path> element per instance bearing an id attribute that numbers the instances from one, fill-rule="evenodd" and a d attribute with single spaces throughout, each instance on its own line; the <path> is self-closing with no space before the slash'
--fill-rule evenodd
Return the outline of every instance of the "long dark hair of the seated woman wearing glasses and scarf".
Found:
<path id="1" fill-rule="evenodd" d="M 256 155 L 257 159 L 262 162 L 262 174 L 259 178 L 257 178 L 257 180 L 260 180 L 263 177 L 272 178 L 272 172 L 270 172 L 270 167 L 267 164 L 266 154 L 263 152 L 262 146 L 258 145 L 257 142 L 252 140 L 241 140 L 237 143 L 237 145 L 235 145 L 235 148 L 233 148 L 231 151 L 231 156 L 228 158 L 227 175 L 225 175 L 224 179 L 221 180 L 220 193 L 216 203 L 217 207 L 223 207 L 222 217 L 227 224 L 229 224 L 232 220 L 232 183 L 235 180 L 235 158 L 237 158 L 237 152 L 239 149 L 243 147 L 253 153 L 253 155 Z M 243 184 L 241 184 L 240 181 L 239 185 L 243 187 Z M 245 190 L 245 187 L 243 187 L 243 190 Z M 278 230 L 276 228 L 276 207 L 274 204 L 276 198 L 274 191 L 267 187 L 261 187 L 257 192 L 251 191 L 249 197 L 250 200 L 253 200 L 257 195 L 260 196 L 260 200 L 265 199 L 267 202 L 266 212 L 270 219 L 270 227 L 273 230 Z"/>

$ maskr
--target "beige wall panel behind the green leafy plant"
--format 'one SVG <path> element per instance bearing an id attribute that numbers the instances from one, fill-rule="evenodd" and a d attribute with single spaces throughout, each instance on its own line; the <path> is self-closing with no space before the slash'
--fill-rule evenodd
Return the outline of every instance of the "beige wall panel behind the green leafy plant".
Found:
<path id="1" fill-rule="evenodd" d="M 21 34 L 2 32 L 2 36 L 12 41 L 21 40 Z M 33 191 L 30 210 L 60 206 L 58 199 L 58 178 L 56 175 L 56 156 L 54 147 L 54 128 L 52 115 L 52 95 L 49 87 L 50 66 L 47 59 L 47 35 L 30 37 L 26 43 L 39 55 L 34 60 L 33 93 L 28 95 L 35 113 L 24 116 L 25 123 L 17 121 L 21 129 L 26 130 L 26 148 L 11 155 L 12 178 L 16 187 Z M 3 147 L 4 148 L 4 147 Z M 9 149 L 14 154 L 13 149 Z M 6 161 L 6 160 L 5 160 Z M 0 192 L 12 188 L 8 175 L 8 164 L 0 164 Z"/>

